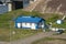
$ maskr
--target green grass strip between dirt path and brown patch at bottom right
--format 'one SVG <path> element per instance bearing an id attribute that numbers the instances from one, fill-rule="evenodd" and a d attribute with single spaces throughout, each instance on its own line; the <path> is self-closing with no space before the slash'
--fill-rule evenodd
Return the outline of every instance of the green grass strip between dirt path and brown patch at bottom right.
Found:
<path id="1" fill-rule="evenodd" d="M 55 41 L 55 40 L 66 41 L 66 38 L 44 37 L 44 38 L 34 41 L 32 44 L 42 44 L 42 43 L 44 44 L 44 42 L 47 42 L 47 41 Z"/>

